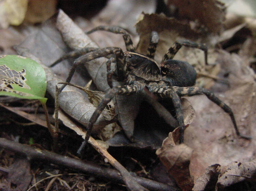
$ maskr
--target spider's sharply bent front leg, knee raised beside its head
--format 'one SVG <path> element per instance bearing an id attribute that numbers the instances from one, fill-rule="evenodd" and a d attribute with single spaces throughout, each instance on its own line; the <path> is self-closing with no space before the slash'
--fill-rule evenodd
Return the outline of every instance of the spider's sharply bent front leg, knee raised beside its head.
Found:
<path id="1" fill-rule="evenodd" d="M 93 60 L 93 59 L 96 59 L 99 57 L 106 57 L 110 54 L 116 55 L 116 69 L 117 69 L 118 80 L 125 81 L 128 76 L 128 69 L 127 69 L 127 65 L 125 63 L 124 53 L 123 53 L 122 49 L 120 49 L 118 47 L 106 47 L 106 48 L 102 48 L 102 49 L 97 49 L 94 52 L 89 52 L 89 53 L 77 58 L 74 61 L 72 68 L 70 69 L 70 72 L 66 79 L 66 82 L 68 82 L 68 83 L 70 82 L 77 66 L 79 66 L 80 64 L 89 62 L 90 60 Z M 60 88 L 60 92 L 65 87 L 66 87 L 66 85 L 63 84 L 62 87 Z"/>

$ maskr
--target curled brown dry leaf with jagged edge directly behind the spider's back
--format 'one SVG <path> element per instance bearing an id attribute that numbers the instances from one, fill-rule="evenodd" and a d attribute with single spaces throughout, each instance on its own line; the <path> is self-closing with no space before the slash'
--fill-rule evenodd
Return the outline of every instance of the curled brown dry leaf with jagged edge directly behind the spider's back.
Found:
<path id="1" fill-rule="evenodd" d="M 137 52 L 146 54 L 152 31 L 159 35 L 155 59 L 160 62 L 162 56 L 178 38 L 198 39 L 199 34 L 191 30 L 187 23 L 180 22 L 174 18 L 168 18 L 163 14 L 142 13 L 136 23 L 140 41 Z M 179 52 L 178 52 L 179 53 Z"/>

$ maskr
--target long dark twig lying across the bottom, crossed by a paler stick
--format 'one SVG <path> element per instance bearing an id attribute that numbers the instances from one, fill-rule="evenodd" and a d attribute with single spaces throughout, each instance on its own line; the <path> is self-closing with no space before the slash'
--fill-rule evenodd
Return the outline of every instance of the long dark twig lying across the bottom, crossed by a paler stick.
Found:
<path id="1" fill-rule="evenodd" d="M 50 163 L 61 165 L 73 170 L 81 171 L 98 177 L 107 178 L 118 183 L 124 183 L 120 173 L 113 169 L 104 168 L 93 163 L 62 156 L 49 151 L 34 149 L 29 145 L 20 144 L 4 138 L 0 138 L 0 147 L 20 155 L 27 156 L 30 160 L 46 160 Z M 147 178 L 134 176 L 134 179 L 145 188 L 150 190 L 179 190 L 177 187 L 169 186 Z"/>

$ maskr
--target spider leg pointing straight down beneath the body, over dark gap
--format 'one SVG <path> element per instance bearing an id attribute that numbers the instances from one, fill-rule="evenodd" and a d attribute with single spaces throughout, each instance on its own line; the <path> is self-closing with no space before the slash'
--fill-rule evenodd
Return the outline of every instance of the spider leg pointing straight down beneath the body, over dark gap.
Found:
<path id="1" fill-rule="evenodd" d="M 156 95 L 160 95 L 162 98 L 171 98 L 174 109 L 175 109 L 176 119 L 177 119 L 178 128 L 179 128 L 179 143 L 180 144 L 183 143 L 185 124 L 184 124 L 181 100 L 179 95 L 175 92 L 174 89 L 172 89 L 171 86 L 160 88 L 154 84 L 152 85 L 149 84 L 148 88 L 150 92 Z"/>

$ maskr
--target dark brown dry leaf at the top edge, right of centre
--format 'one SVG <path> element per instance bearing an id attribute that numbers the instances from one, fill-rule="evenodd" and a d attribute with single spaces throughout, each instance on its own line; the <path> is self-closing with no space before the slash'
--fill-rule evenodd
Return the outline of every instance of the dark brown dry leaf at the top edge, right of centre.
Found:
<path id="1" fill-rule="evenodd" d="M 165 2 L 169 8 L 175 6 L 176 16 L 180 19 L 198 20 L 201 25 L 207 27 L 209 32 L 213 33 L 221 32 L 223 29 L 226 8 L 219 1 L 167 0 Z"/>

